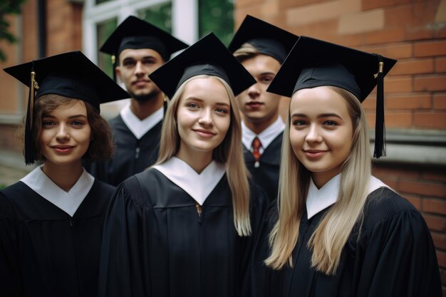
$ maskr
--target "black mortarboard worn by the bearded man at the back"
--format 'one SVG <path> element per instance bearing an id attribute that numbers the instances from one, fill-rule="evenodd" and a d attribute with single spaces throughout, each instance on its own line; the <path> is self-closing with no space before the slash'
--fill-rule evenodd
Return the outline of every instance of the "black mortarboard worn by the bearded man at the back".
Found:
<path id="1" fill-rule="evenodd" d="M 129 16 L 108 37 L 100 51 L 118 58 L 125 48 L 150 48 L 160 53 L 164 61 L 169 61 L 172 53 L 187 48 L 187 44 L 147 21 Z"/>

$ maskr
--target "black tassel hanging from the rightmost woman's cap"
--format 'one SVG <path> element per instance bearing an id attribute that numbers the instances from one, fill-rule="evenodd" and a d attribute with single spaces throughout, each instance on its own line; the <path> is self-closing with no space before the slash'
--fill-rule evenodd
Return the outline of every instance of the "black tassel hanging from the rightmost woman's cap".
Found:
<path id="1" fill-rule="evenodd" d="M 375 148 L 373 157 L 379 158 L 385 156 L 385 124 L 384 124 L 384 62 L 383 56 L 378 57 L 378 73 L 376 87 L 376 120 L 375 120 Z"/>

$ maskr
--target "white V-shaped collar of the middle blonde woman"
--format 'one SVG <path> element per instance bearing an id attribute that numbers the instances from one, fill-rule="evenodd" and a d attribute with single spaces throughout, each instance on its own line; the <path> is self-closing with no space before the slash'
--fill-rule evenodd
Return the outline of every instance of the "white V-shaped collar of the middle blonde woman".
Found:
<path id="1" fill-rule="evenodd" d="M 171 157 L 166 162 L 152 168 L 155 168 L 170 181 L 177 184 L 178 187 L 184 189 L 200 205 L 203 205 L 206 198 L 226 173 L 224 165 L 214 160 L 204 168 L 202 173 L 198 174 L 185 161 L 177 157 Z"/>

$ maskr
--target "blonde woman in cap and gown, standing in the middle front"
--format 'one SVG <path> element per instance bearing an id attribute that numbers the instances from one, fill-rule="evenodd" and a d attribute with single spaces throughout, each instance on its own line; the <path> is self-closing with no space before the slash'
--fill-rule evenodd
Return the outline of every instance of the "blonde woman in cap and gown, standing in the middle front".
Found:
<path id="1" fill-rule="evenodd" d="M 160 156 L 110 204 L 99 296 L 248 296 L 264 196 L 244 167 L 234 94 L 254 79 L 213 34 L 150 78 L 171 98 Z"/>

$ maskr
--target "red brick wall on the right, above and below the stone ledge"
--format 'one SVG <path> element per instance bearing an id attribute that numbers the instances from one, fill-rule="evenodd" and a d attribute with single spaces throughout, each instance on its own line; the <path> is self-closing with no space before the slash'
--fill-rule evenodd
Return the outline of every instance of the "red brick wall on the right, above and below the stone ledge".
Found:
<path id="1" fill-rule="evenodd" d="M 237 0 L 246 14 L 296 35 L 398 59 L 385 78 L 388 130 L 446 130 L 446 0 Z M 375 93 L 363 107 L 375 125 Z M 385 157 L 383 158 L 385 159 Z M 443 164 L 445 160 L 443 160 Z M 374 174 L 420 210 L 437 249 L 446 296 L 446 167 L 374 164 Z"/>

